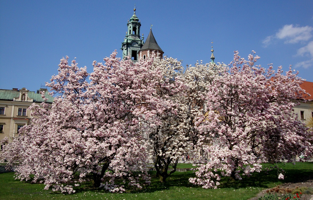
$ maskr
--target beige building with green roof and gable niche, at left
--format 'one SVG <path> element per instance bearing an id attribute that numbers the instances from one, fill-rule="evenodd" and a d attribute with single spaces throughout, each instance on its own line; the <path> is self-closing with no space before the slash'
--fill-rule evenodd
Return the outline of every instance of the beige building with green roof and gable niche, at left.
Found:
<path id="1" fill-rule="evenodd" d="M 37 92 L 27 90 L 25 87 L 18 90 L 0 89 L 0 140 L 8 137 L 9 143 L 18 137 L 21 127 L 31 124 L 31 111 L 28 107 L 33 103 L 40 105 L 44 100 L 40 92 L 46 93 L 47 103 L 53 102 L 53 97 L 48 95 L 45 88 L 40 88 Z"/>

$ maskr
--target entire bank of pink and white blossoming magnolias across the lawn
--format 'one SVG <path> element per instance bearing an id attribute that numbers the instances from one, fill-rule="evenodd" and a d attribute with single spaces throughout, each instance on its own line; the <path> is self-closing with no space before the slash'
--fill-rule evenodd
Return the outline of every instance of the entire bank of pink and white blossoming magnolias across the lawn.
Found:
<path id="1" fill-rule="evenodd" d="M 69 193 L 86 180 L 111 192 L 142 187 L 148 158 L 165 182 L 182 155 L 199 149 L 208 162 L 190 182 L 205 188 L 217 187 L 220 174 L 260 171 L 266 159 L 309 156 L 312 135 L 292 110 L 302 80 L 291 69 L 283 75 L 281 67 L 255 66 L 258 59 L 235 52 L 229 66 L 197 62 L 184 70 L 172 58 L 134 64 L 115 51 L 89 74 L 63 58 L 47 83 L 59 96 L 29 107 L 33 124 L 2 156 L 17 178 Z"/>

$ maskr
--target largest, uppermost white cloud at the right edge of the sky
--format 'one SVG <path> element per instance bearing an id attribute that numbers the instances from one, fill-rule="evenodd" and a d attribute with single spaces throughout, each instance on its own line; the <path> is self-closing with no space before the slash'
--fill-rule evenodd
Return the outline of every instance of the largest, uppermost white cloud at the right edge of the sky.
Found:
<path id="1" fill-rule="evenodd" d="M 310 26 L 294 26 L 293 24 L 285 25 L 276 33 L 279 39 L 285 39 L 286 43 L 298 43 L 307 41 L 312 37 L 313 28 Z"/>

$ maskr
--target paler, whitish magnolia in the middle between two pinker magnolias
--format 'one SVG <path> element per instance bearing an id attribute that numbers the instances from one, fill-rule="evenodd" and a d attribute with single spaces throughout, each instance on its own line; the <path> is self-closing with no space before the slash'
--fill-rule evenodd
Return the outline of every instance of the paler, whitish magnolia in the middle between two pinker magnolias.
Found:
<path id="1" fill-rule="evenodd" d="M 147 139 L 156 176 L 160 182 L 176 171 L 179 158 L 198 153 L 197 142 L 206 132 L 196 128 L 206 123 L 203 112 L 208 85 L 218 76 L 215 66 L 196 63 L 183 71 L 181 62 L 172 58 L 155 59 L 152 63 L 159 77 L 153 85 L 150 110 L 155 110 L 152 121 L 145 120 Z M 173 170 L 168 172 L 169 166 Z"/>

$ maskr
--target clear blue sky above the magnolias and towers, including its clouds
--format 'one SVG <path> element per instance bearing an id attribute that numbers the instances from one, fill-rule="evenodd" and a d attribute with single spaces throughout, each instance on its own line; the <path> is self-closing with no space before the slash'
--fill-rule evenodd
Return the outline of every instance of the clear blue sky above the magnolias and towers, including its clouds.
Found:
<path id="1" fill-rule="evenodd" d="M 7 1 L 0 2 L 0 88 L 36 91 L 57 74 L 62 57 L 77 57 L 93 70 L 117 49 L 127 19 L 141 20 L 145 39 L 150 24 L 164 55 L 194 65 L 209 62 L 211 40 L 215 62 L 229 63 L 233 51 L 257 64 L 313 82 L 313 1 Z"/>

